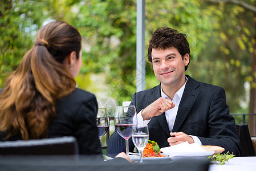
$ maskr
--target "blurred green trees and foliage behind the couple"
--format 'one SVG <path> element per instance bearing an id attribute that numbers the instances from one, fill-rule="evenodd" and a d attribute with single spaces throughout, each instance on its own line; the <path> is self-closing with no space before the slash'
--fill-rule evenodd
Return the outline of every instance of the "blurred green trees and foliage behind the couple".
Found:
<path id="1" fill-rule="evenodd" d="M 140 0 L 137 0 L 140 1 Z M 239 3 L 238 3 L 239 2 Z M 61 20 L 83 36 L 79 88 L 113 104 L 136 92 L 136 0 L 1 0 L 0 88 L 46 23 Z M 224 87 L 231 113 L 256 113 L 256 1 L 146 0 L 145 44 L 158 27 L 188 35 L 186 74 Z M 146 88 L 159 84 L 146 58 Z M 250 99 L 250 97 L 253 99 Z M 251 105 L 250 105 L 251 101 Z M 241 118 L 236 117 L 237 123 Z"/>

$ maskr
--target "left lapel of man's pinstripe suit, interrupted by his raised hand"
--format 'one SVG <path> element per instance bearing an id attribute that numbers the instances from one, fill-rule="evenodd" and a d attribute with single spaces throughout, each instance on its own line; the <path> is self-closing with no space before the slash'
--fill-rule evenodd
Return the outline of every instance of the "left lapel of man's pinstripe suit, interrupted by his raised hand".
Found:
<path id="1" fill-rule="evenodd" d="M 156 86 L 156 88 L 152 90 L 152 96 L 149 96 L 149 97 L 150 98 L 149 98 L 148 104 L 153 103 L 154 101 L 159 99 L 159 97 L 161 97 L 160 85 Z M 168 127 L 168 124 L 166 121 L 165 113 L 162 113 L 161 115 L 156 116 L 156 120 L 159 122 L 159 124 L 161 125 L 164 132 L 167 135 L 170 135 L 170 131 L 169 131 L 169 127 Z"/>

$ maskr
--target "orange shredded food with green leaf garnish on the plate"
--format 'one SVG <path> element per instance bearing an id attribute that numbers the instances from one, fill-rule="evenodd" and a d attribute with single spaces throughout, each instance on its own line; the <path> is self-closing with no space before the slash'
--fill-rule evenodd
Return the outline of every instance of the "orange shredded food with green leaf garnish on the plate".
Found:
<path id="1" fill-rule="evenodd" d="M 161 154 L 159 145 L 155 141 L 148 140 L 143 150 L 143 157 L 165 157 Z"/>

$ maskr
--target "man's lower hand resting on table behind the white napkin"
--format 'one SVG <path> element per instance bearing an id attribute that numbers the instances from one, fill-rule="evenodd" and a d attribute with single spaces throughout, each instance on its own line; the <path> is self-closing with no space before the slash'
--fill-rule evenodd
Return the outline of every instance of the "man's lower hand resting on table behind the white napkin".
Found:
<path id="1" fill-rule="evenodd" d="M 171 132 L 170 135 L 172 136 L 174 132 Z M 170 146 L 172 145 L 177 145 L 180 143 L 184 143 L 186 141 L 188 141 L 189 144 L 194 143 L 194 140 L 192 139 L 192 137 L 190 137 L 189 135 L 186 135 L 183 132 L 175 132 L 175 136 L 173 137 L 169 137 L 167 139 L 168 143 Z"/>

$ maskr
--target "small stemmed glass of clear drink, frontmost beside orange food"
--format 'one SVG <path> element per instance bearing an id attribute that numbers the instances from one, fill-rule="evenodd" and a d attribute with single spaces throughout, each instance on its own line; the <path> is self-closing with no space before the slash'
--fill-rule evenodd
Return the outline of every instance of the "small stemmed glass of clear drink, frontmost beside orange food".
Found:
<path id="1" fill-rule="evenodd" d="M 148 125 L 144 127 L 132 127 L 132 142 L 140 153 L 140 162 L 143 162 L 143 150 L 148 143 L 149 131 Z"/>

